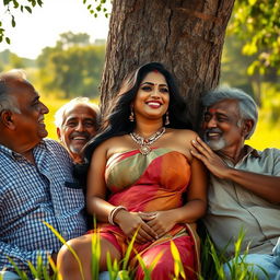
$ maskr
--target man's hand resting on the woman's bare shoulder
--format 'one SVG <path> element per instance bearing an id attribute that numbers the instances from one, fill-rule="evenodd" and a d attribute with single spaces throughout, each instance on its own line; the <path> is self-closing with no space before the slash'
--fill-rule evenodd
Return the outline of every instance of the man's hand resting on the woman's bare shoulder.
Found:
<path id="1" fill-rule="evenodd" d="M 208 144 L 206 144 L 199 137 L 197 137 L 196 140 L 192 140 L 191 144 L 195 148 L 190 151 L 191 154 L 203 162 L 206 167 L 214 176 L 221 179 L 226 177 L 226 173 L 230 171 L 230 167 L 218 154 L 211 150 Z"/>

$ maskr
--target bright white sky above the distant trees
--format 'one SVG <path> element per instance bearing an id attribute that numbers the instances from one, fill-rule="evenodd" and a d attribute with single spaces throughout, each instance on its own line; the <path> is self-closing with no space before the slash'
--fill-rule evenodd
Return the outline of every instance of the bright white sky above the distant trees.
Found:
<path id="1" fill-rule="evenodd" d="M 5 9 L 0 1 L 0 19 L 5 35 L 11 39 L 10 45 L 0 43 L 0 51 L 9 49 L 20 57 L 35 59 L 44 47 L 55 46 L 61 33 L 88 33 L 92 43 L 98 38 L 107 38 L 109 19 L 104 14 L 94 18 L 83 4 L 83 0 L 43 2 L 43 8 L 34 8 L 32 14 L 27 11 L 14 12 L 16 25 L 12 27 L 10 15 L 4 12 Z M 86 3 L 94 1 L 88 0 Z"/>

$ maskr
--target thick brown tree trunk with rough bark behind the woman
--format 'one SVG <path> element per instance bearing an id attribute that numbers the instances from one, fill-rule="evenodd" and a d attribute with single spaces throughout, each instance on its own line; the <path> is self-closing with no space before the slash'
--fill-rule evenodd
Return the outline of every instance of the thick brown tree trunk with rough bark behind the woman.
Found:
<path id="1" fill-rule="evenodd" d="M 234 0 L 114 0 L 101 84 L 103 108 L 128 72 L 158 61 L 175 74 L 196 125 L 201 94 L 219 82 L 233 4 Z"/>

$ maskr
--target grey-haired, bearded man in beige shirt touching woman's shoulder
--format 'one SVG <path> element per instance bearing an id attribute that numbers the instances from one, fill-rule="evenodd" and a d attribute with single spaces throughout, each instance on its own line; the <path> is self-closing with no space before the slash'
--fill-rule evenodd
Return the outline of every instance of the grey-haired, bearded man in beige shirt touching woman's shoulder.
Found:
<path id="1" fill-rule="evenodd" d="M 280 150 L 257 151 L 244 144 L 256 128 L 258 113 L 243 91 L 220 88 L 206 94 L 202 104 L 205 142 L 194 141 L 192 154 L 210 171 L 207 230 L 218 249 L 233 257 L 234 241 L 243 229 L 242 252 L 248 247 L 245 261 L 253 264 L 259 279 L 267 279 L 260 267 L 275 279 L 280 269 L 279 243 L 276 246 L 280 236 Z M 229 264 L 224 268 L 230 278 Z"/>

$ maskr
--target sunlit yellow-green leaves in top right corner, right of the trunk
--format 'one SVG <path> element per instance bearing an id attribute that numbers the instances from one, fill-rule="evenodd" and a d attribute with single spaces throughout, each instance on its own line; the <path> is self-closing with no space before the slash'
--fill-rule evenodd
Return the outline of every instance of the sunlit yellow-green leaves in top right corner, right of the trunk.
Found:
<path id="1" fill-rule="evenodd" d="M 280 74 L 280 1 L 236 0 L 229 34 L 243 40 L 243 54 L 254 56 L 248 73 L 266 73 L 273 68 Z"/>

